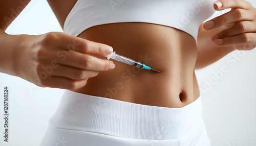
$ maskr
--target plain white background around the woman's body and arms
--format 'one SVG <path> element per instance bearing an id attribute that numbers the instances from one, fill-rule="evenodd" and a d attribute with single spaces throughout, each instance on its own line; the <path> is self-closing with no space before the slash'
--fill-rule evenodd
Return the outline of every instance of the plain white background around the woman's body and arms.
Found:
<path id="1" fill-rule="evenodd" d="M 249 2 L 256 7 L 255 1 Z M 51 31 L 62 32 L 44 0 L 32 0 L 6 30 L 8 34 L 30 35 Z M 247 52 L 231 52 L 221 60 L 196 70 L 203 96 L 203 118 L 212 146 L 256 145 L 255 64 L 256 48 Z M 222 67 L 227 71 L 222 71 Z M 10 131 L 9 142 L 4 142 L 1 136 L 0 145 L 38 145 L 64 90 L 37 87 L 18 77 L 0 73 L 1 96 L 4 86 L 10 90 Z M 3 98 L 0 100 L 0 114 L 0 132 L 3 133 Z"/>

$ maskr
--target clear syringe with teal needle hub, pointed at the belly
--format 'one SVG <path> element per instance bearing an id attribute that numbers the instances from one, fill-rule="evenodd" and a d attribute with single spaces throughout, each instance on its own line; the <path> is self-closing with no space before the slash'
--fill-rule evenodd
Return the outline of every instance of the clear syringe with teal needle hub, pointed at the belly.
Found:
<path id="1" fill-rule="evenodd" d="M 118 55 L 118 54 L 116 54 L 116 52 L 113 52 L 109 55 L 106 55 L 105 57 L 108 57 L 108 60 L 110 60 L 110 58 L 111 58 L 111 59 L 129 64 L 129 65 L 141 68 L 141 69 L 146 68 L 146 69 L 152 69 L 152 70 L 158 71 L 156 69 L 151 68 L 150 66 L 146 66 L 144 63 L 140 63 L 140 62 L 135 61 L 133 59 Z M 158 71 L 158 72 L 160 72 L 160 71 Z"/>

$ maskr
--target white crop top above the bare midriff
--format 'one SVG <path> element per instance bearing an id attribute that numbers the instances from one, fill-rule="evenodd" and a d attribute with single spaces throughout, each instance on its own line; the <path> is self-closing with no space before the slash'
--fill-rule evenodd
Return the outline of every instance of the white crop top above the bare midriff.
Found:
<path id="1" fill-rule="evenodd" d="M 200 24 L 214 14 L 216 0 L 78 0 L 64 32 L 78 36 L 106 23 L 147 22 L 182 30 L 195 38 Z"/>

